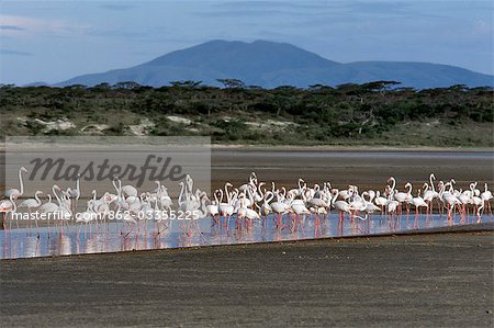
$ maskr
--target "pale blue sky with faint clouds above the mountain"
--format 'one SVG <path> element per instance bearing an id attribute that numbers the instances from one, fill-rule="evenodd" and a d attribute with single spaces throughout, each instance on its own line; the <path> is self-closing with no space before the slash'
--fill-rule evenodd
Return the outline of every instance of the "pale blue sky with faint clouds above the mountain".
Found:
<path id="1" fill-rule="evenodd" d="M 325 58 L 493 73 L 492 1 L 5 1 L 0 83 L 59 82 L 211 39 L 288 42 Z"/>

